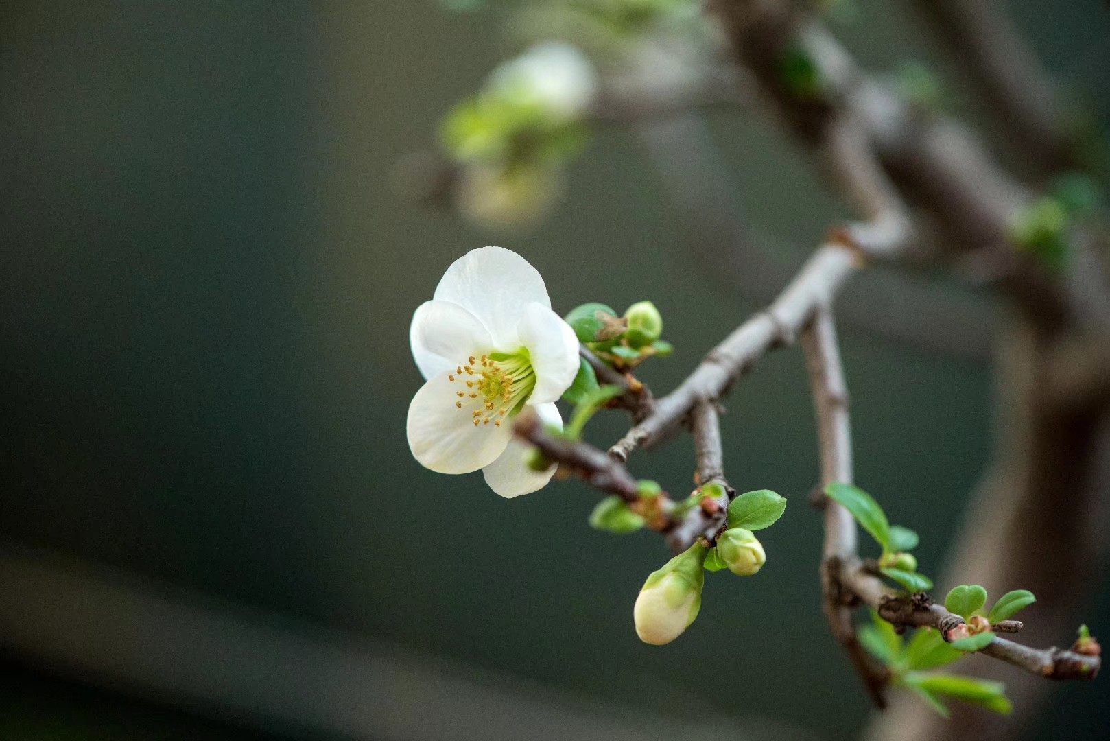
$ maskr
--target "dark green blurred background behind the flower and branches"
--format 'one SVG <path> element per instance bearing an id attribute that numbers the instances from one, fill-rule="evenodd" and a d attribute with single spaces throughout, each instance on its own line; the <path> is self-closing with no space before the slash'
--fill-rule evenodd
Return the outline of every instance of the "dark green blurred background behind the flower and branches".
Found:
<path id="1" fill-rule="evenodd" d="M 837 32 L 865 64 L 930 58 L 901 3 L 859 4 Z M 1104 119 L 1104 3 L 1010 4 L 1049 69 Z M 805 505 L 813 412 L 796 351 L 763 361 L 723 421 L 733 483 L 790 500 L 763 538 L 767 565 L 755 579 L 710 575 L 697 623 L 665 648 L 632 627 L 643 579 L 667 558 L 657 538 L 588 529 L 597 495 L 577 482 L 506 501 L 480 474 L 433 474 L 408 453 L 404 415 L 421 384 L 408 320 L 474 247 L 525 256 L 556 310 L 654 300 L 677 348 L 645 369 L 656 390 L 757 308 L 684 251 L 618 129 L 593 140 L 532 232 L 478 230 L 391 188 L 398 158 L 428 147 L 438 117 L 513 51 L 500 18 L 430 0 L 0 7 L 6 548 L 195 588 L 498 681 L 850 738 L 868 709 L 819 610 L 820 523 Z M 975 119 L 975 101 L 950 96 Z M 799 261 L 841 207 L 760 116 L 713 127 L 753 221 Z M 922 534 L 921 569 L 936 572 L 950 512 L 988 453 L 989 369 L 844 334 L 858 480 Z M 623 423 L 591 434 L 607 443 Z M 690 461 L 679 440 L 633 465 L 683 491 Z M 1110 609 L 1100 593 L 1092 615 Z M 87 687 L 104 683 L 11 647 L 0 655 L 4 739 L 316 733 Z M 1104 738 L 1110 712 L 1089 704 L 1102 684 L 1060 688 L 1058 732 Z M 1080 703 L 1082 721 L 1069 711 Z M 1040 735 L 1054 738 L 1047 722 Z"/>

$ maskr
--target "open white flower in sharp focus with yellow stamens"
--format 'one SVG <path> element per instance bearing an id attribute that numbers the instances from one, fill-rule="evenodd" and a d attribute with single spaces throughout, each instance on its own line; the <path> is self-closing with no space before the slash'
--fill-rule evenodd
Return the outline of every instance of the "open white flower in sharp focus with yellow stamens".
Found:
<path id="1" fill-rule="evenodd" d="M 544 487 L 555 467 L 529 469 L 508 420 L 531 407 L 563 427 L 555 400 L 578 372 L 578 340 L 536 269 L 500 247 L 467 252 L 416 309 L 408 339 L 427 379 L 408 405 L 416 460 L 440 473 L 483 469 L 502 497 Z"/>

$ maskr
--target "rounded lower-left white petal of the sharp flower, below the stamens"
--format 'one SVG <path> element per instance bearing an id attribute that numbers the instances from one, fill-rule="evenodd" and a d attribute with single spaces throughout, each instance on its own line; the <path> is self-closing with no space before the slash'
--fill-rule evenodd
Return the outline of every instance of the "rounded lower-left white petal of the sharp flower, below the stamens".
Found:
<path id="1" fill-rule="evenodd" d="M 443 371 L 408 404 L 408 448 L 421 465 L 440 473 L 470 473 L 488 465 L 513 435 L 508 424 L 474 427 L 470 409 L 455 407 L 457 390 Z"/>

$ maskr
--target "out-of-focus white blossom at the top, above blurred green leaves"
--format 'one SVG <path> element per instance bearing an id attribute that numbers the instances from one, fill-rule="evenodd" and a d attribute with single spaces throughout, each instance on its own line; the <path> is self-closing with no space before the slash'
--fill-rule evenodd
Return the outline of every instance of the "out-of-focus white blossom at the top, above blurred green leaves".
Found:
<path id="1" fill-rule="evenodd" d="M 569 121 L 586 112 L 597 92 L 597 73 L 576 47 L 545 41 L 495 69 L 490 88 L 519 96 Z"/>

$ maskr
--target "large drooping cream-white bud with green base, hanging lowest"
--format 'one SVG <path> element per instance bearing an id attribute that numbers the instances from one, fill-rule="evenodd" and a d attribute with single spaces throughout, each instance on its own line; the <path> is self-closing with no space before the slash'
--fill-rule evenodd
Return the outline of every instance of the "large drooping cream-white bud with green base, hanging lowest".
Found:
<path id="1" fill-rule="evenodd" d="M 639 640 L 663 645 L 694 622 L 702 609 L 703 565 L 708 552 L 702 543 L 694 543 L 647 578 L 633 609 Z"/>

